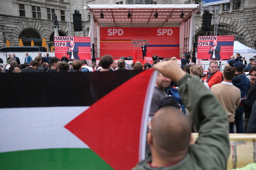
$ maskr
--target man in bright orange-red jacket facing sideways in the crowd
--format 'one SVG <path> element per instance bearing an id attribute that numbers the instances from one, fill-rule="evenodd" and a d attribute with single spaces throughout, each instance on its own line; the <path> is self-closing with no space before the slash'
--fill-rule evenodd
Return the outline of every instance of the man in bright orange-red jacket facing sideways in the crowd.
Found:
<path id="1" fill-rule="evenodd" d="M 211 88 L 212 85 L 222 82 L 222 73 L 218 70 L 218 63 L 216 61 L 211 61 L 209 68 L 211 74 L 207 74 L 207 76 L 203 80 Z"/>

